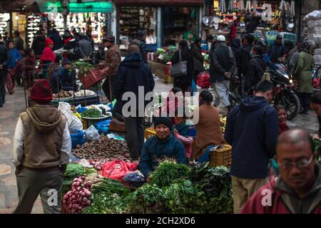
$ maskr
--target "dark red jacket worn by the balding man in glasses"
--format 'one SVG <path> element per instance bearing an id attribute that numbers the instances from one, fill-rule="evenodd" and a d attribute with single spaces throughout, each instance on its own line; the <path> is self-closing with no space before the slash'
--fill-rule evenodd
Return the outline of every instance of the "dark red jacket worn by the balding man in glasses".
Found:
<path id="1" fill-rule="evenodd" d="M 307 195 L 307 197 L 313 197 L 313 205 L 310 204 L 310 214 L 321 214 L 321 185 L 320 185 L 321 175 L 319 173 L 317 177 L 317 185 L 315 186 L 316 192 L 313 192 L 312 195 Z M 277 178 L 272 179 L 263 187 L 260 187 L 258 192 L 248 199 L 248 202 L 243 207 L 241 214 L 293 214 L 293 208 L 288 204 L 285 204 L 285 201 L 282 199 L 282 194 L 287 194 L 286 192 L 282 192 L 282 190 L 276 187 Z M 265 192 L 263 192 L 265 190 Z M 267 202 L 267 193 L 270 190 L 271 192 L 271 202 L 272 206 L 263 206 L 262 202 Z M 263 199 L 263 197 L 265 197 Z M 305 199 L 307 198 L 305 197 Z M 297 199 L 300 200 L 300 199 Z M 311 198 L 310 198 L 311 200 Z"/>

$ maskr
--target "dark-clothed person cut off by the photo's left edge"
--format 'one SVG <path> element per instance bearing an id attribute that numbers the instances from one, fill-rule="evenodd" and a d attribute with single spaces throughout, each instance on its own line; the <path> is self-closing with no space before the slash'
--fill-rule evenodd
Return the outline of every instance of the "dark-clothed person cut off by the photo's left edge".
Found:
<path id="1" fill-rule="evenodd" d="M 0 107 L 6 101 L 6 75 L 8 74 L 9 56 L 6 46 L 0 44 Z"/>

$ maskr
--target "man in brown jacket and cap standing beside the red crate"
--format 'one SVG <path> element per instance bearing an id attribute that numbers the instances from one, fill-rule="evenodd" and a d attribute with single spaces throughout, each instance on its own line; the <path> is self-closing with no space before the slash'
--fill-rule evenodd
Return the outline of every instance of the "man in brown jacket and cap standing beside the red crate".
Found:
<path id="1" fill-rule="evenodd" d="M 105 63 L 107 67 L 104 68 L 101 73 L 107 74 L 107 78 L 103 83 L 103 93 L 105 93 L 108 100 L 113 100 L 113 81 L 115 81 L 115 75 L 118 71 L 118 66 L 121 64 L 121 50 L 115 43 L 114 36 L 106 36 L 103 38 L 103 46 L 108 48 L 106 53 Z"/>

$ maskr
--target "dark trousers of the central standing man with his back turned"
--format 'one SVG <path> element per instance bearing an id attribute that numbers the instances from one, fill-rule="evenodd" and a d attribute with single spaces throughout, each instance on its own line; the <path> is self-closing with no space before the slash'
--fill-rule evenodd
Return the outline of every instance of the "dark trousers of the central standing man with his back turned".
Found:
<path id="1" fill-rule="evenodd" d="M 125 118 L 126 125 L 126 142 L 128 150 L 133 160 L 138 160 L 141 156 L 141 150 L 144 143 L 144 118 L 128 117 Z"/>

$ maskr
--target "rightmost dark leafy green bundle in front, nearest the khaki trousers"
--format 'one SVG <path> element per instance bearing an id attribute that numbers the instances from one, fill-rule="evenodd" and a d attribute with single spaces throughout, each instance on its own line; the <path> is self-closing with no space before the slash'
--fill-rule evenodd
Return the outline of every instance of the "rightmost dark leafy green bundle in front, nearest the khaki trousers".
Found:
<path id="1" fill-rule="evenodd" d="M 180 180 L 165 190 L 166 212 L 173 214 L 205 213 L 208 204 L 205 193 L 190 180 Z"/>

